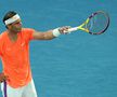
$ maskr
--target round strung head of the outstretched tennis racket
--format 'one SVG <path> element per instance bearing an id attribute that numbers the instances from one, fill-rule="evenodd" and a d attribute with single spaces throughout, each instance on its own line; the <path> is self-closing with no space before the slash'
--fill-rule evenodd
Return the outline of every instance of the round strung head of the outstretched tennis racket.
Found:
<path id="1" fill-rule="evenodd" d="M 98 11 L 88 17 L 84 28 L 90 34 L 101 34 L 105 32 L 109 26 L 109 16 L 106 12 Z"/>

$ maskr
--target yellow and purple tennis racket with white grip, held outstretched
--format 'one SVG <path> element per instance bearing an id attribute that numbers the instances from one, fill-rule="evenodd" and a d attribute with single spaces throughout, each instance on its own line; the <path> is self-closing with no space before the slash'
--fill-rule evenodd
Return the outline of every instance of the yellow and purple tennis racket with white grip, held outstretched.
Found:
<path id="1" fill-rule="evenodd" d="M 107 30 L 109 26 L 109 16 L 103 11 L 92 13 L 84 23 L 78 27 L 72 27 L 66 32 L 82 30 L 90 34 L 101 34 Z"/>

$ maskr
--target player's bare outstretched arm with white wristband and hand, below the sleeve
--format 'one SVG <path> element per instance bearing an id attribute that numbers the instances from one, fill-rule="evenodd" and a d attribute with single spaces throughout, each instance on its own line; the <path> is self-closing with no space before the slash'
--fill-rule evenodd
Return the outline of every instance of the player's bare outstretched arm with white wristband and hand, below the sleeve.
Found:
<path id="1" fill-rule="evenodd" d="M 65 34 L 65 31 L 67 31 L 68 28 L 68 26 L 65 26 L 46 32 L 35 31 L 32 36 L 35 40 L 52 40 L 60 34 Z"/>

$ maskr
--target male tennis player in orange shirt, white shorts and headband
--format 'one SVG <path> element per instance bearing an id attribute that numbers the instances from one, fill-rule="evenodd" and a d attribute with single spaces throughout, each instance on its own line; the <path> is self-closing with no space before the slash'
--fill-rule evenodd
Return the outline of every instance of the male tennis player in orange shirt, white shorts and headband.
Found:
<path id="1" fill-rule="evenodd" d="M 37 97 L 29 63 L 29 42 L 51 40 L 65 33 L 69 27 L 60 27 L 46 32 L 22 28 L 22 19 L 14 12 L 3 17 L 6 30 L 0 34 L 0 58 L 3 71 L 0 73 L 1 89 L 4 97 Z"/>

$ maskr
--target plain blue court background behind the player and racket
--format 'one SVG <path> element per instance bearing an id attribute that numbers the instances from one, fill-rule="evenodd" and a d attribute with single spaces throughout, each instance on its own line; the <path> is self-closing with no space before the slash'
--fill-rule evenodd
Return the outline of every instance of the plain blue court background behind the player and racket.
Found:
<path id="1" fill-rule="evenodd" d="M 39 97 L 117 97 L 116 8 L 117 0 L 1 0 L 0 32 L 10 10 L 21 15 L 24 27 L 39 31 L 77 26 L 95 11 L 108 12 L 104 34 L 76 31 L 30 42 L 30 63 Z"/>

